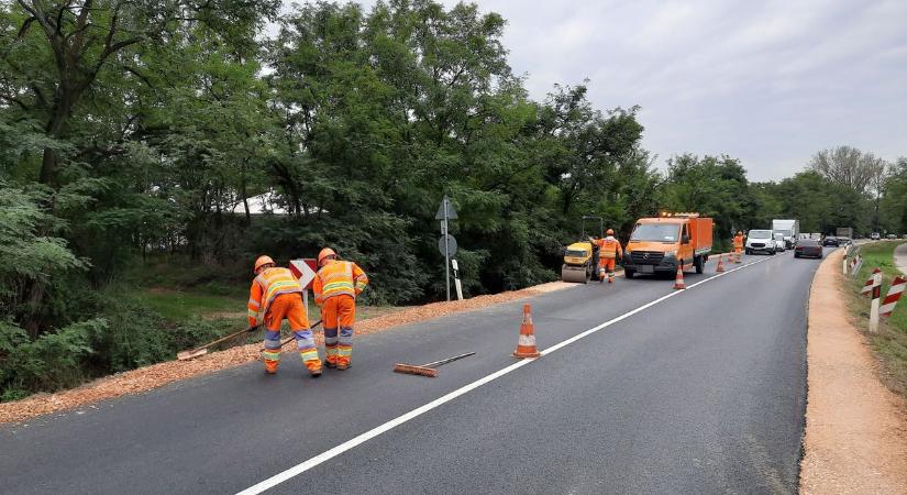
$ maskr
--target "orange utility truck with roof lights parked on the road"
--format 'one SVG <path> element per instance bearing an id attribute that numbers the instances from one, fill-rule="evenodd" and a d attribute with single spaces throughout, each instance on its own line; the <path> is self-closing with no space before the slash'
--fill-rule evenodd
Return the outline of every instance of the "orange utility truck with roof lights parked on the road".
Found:
<path id="1" fill-rule="evenodd" d="M 684 271 L 695 267 L 703 273 L 711 252 L 711 219 L 699 213 L 662 212 L 637 220 L 623 250 L 624 275 L 673 274 L 678 264 Z"/>

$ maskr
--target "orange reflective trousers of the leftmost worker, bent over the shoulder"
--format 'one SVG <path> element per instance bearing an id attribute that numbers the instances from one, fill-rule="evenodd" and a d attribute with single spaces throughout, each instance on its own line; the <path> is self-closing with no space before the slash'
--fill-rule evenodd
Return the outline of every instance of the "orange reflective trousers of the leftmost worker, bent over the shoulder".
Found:
<path id="1" fill-rule="evenodd" d="M 276 372 L 280 364 L 280 324 L 284 319 L 289 320 L 290 330 L 296 338 L 296 346 L 302 363 L 310 372 L 321 371 L 321 360 L 314 346 L 314 336 L 309 328 L 309 318 L 302 305 L 302 296 L 298 293 L 281 294 L 270 302 L 265 315 L 265 369 Z"/>

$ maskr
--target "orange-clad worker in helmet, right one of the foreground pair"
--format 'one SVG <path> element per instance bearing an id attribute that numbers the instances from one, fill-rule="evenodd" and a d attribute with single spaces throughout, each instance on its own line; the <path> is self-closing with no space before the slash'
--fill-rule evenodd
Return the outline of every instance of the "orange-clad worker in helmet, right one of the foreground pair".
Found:
<path id="1" fill-rule="evenodd" d="M 321 306 L 325 365 L 346 370 L 353 356 L 356 296 L 365 289 L 368 277 L 355 263 L 338 260 L 330 248 L 318 253 L 318 266 L 312 290 L 316 304 Z"/>

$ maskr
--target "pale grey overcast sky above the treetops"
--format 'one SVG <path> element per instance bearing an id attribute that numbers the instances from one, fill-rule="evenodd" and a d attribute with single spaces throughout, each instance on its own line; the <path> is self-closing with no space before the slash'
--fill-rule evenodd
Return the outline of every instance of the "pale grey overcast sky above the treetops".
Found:
<path id="1" fill-rule="evenodd" d="M 596 107 L 641 106 L 660 166 L 726 153 L 765 180 L 841 144 L 907 155 L 907 0 L 477 3 L 534 99 L 588 78 Z"/>

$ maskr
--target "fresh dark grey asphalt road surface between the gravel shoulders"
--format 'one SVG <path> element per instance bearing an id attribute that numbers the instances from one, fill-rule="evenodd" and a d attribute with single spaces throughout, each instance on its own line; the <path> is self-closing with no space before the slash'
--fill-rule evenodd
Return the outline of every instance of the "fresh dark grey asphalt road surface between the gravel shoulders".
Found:
<path id="1" fill-rule="evenodd" d="M 0 426 L 0 493 L 796 493 L 819 262 L 743 261 L 530 299 L 534 361 L 519 301 L 365 336 L 318 380 L 285 355 Z"/>

